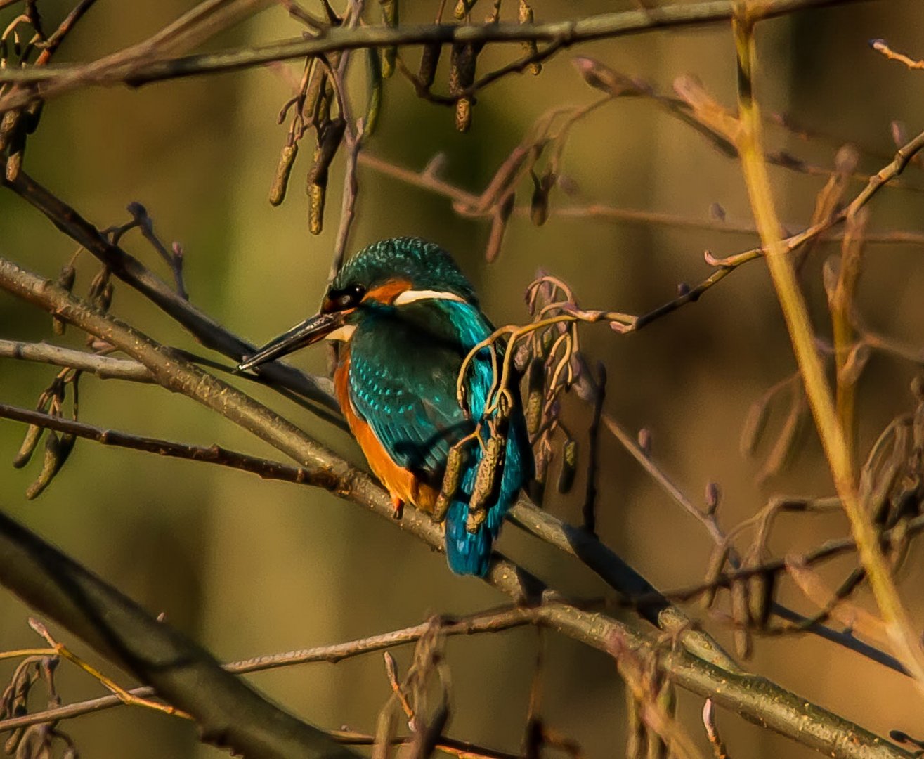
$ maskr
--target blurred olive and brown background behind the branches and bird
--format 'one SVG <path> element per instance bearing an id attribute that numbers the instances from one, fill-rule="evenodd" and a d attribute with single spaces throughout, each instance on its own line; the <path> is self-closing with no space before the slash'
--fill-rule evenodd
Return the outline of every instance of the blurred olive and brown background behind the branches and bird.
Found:
<path id="1" fill-rule="evenodd" d="M 40 5 L 49 25 L 70 7 L 57 0 Z M 90 60 L 138 42 L 192 5 L 180 0 L 140 5 L 101 0 L 57 60 Z M 406 2 L 402 20 L 432 20 L 435 7 L 435 2 Z M 541 21 L 632 7 L 629 0 L 534 4 Z M 18 6 L 0 11 L 0 26 L 17 11 Z M 505 8 L 504 16 L 514 13 L 515 8 Z M 378 22 L 377 7 L 371 7 L 369 18 Z M 922 57 L 922 19 L 917 0 L 890 0 L 761 23 L 761 103 L 768 113 L 785 114 L 818 135 L 807 141 L 771 128 L 768 147 L 830 169 L 838 147 L 852 143 L 860 151 L 860 172 L 873 173 L 886 165 L 895 150 L 893 120 L 905 122 L 909 135 L 924 125 L 924 72 L 885 60 L 868 41 L 881 37 L 912 57 Z M 265 42 L 299 31 L 282 7 L 273 7 L 212 46 Z M 386 82 L 380 127 L 366 150 L 416 171 L 444 153 L 444 178 L 478 194 L 538 116 L 556 105 L 586 104 L 599 97 L 572 65 L 577 54 L 638 75 L 659 92 L 671 92 L 676 77 L 695 74 L 721 103 L 735 104 L 733 42 L 728 26 L 718 24 L 560 53 L 541 76 L 514 76 L 483 92 L 468 134 L 454 129 L 452 109 L 419 100 L 406 81 L 395 77 Z M 419 51 L 406 55 L 416 68 Z M 489 50 L 480 58 L 480 70 L 515 55 L 518 46 Z M 354 68 L 361 83 L 359 59 Z M 191 299 L 237 334 L 261 343 L 315 309 L 338 222 L 342 155 L 332 169 L 320 237 L 308 234 L 308 203 L 301 191 L 307 150 L 303 148 L 296 164 L 286 202 L 273 208 L 266 201 L 286 136 L 276 114 L 300 72 L 296 62 L 137 90 L 68 94 L 46 107 L 25 166 L 100 227 L 124 222 L 128 202 L 143 203 L 158 233 L 183 244 Z M 445 76 L 444 60 L 438 82 Z M 350 248 L 356 251 L 397 235 L 432 239 L 455 254 L 479 289 L 485 311 L 503 324 L 529 319 L 522 295 L 540 267 L 575 288 L 583 306 L 643 313 L 673 298 L 678 283 L 696 283 L 708 275 L 704 250 L 727 255 L 757 241 L 753 234 L 720 229 L 556 215 L 564 206 L 596 202 L 708 221 L 715 216 L 711 205 L 719 203 L 728 226 L 750 223 L 736 162 L 649 100 L 616 100 L 578 124 L 565 150 L 564 170 L 577 193 L 566 197 L 556 190 L 544 226 L 516 215 L 500 257 L 487 264 L 489 223 L 460 218 L 445 198 L 360 167 L 359 216 Z M 794 230 L 807 225 L 826 177 L 774 166 L 771 178 L 784 223 Z M 905 189 L 884 190 L 871 204 L 871 229 L 921 231 L 924 178 L 918 165 L 909 167 L 903 183 Z M 853 183 L 847 197 L 860 187 Z M 518 195 L 521 205 L 529 202 L 529 191 L 524 185 Z M 129 235 L 125 245 L 168 275 L 143 240 Z M 54 277 L 74 247 L 25 202 L 0 192 L 0 255 Z M 830 335 L 830 326 L 821 264 L 837 250 L 836 244 L 821 245 L 803 271 L 822 337 Z M 921 253 L 915 245 L 870 244 L 857 300 L 870 327 L 913 347 L 924 337 Z M 89 256 L 81 260 L 75 292 L 85 292 L 96 270 Z M 199 349 L 124 285 L 116 285 L 112 311 L 159 341 Z M 72 329 L 67 337 L 55 337 L 49 319 L 6 295 L 0 295 L 0 324 L 0 337 L 83 345 Z M 619 337 L 601 325 L 586 328 L 584 339 L 590 357 L 605 361 L 609 370 L 606 409 L 633 431 L 650 430 L 654 459 L 696 503 L 703 502 L 708 482 L 720 484 L 719 516 L 726 528 L 774 495 L 833 493 L 810 423 L 796 455 L 779 474 L 759 476 L 769 445 L 750 459 L 739 452 L 749 406 L 795 371 L 762 263 L 742 267 L 698 303 L 636 334 Z M 325 370 L 325 360 L 323 350 L 304 351 L 292 359 L 315 373 Z M 869 362 L 858 397 L 860 459 L 886 423 L 913 408 L 908 385 L 916 371 L 911 363 L 880 355 Z M 54 373 L 40 364 L 0 361 L 0 400 L 32 407 Z M 260 397 L 351 460 L 361 461 L 346 435 L 272 393 Z M 575 404 L 566 412 L 574 428 L 586 429 L 585 409 Z M 782 407 L 772 414 L 768 440 L 784 415 Z M 274 456 L 233 424 L 155 386 L 87 377 L 81 385 L 80 417 L 141 435 Z M 80 441 L 47 492 L 28 502 L 23 494 L 39 462 L 23 471 L 9 466 L 24 431 L 16 422 L 0 422 L 0 508 L 153 613 L 163 612 L 222 660 L 335 643 L 436 613 L 466 613 L 505 603 L 483 583 L 453 576 L 444 557 L 361 508 L 319 490 L 262 482 L 204 464 Z M 711 547 L 705 531 L 605 434 L 601 460 L 602 540 L 661 588 L 699 581 Z M 582 492 L 579 476 L 572 496 L 549 497 L 546 508 L 577 521 Z M 790 518 L 771 547 L 778 554 L 800 552 L 846 531 L 845 520 L 837 515 Z M 603 592 L 602 583 L 577 562 L 514 528 L 506 529 L 500 545 L 557 587 L 585 596 Z M 847 567 L 849 562 L 841 563 L 824 577 L 833 583 Z M 907 605 L 918 620 L 922 605 L 916 589 L 924 581 L 920 567 L 919 555 L 913 554 L 900 576 Z M 859 597 L 869 600 L 862 593 Z M 811 608 L 796 591 L 785 592 L 782 600 L 803 611 Z M 699 614 L 697 606 L 691 611 Z M 0 595 L 0 649 L 37 643 L 28 616 L 16 599 Z M 705 624 L 720 640 L 729 641 L 721 626 L 708 618 Z M 65 631 L 59 632 L 60 640 L 87 653 Z M 623 753 L 624 697 L 612 660 L 553 634 L 545 637 L 541 714 L 548 725 L 579 741 L 588 756 Z M 512 753 L 519 750 L 538 644 L 532 629 L 449 641 L 452 735 Z M 396 652 L 402 671 L 409 655 L 407 648 Z M 891 728 L 920 733 L 919 696 L 909 679 L 817 638 L 758 640 L 748 667 L 880 734 Z M 12 665 L 0 669 L 0 680 L 6 680 L 7 670 Z M 66 702 L 101 692 L 88 677 L 69 667 L 62 670 Z M 106 671 L 118 674 L 112 667 Z M 130 681 L 125 675 L 118 679 Z M 256 674 L 252 681 L 286 708 L 326 728 L 374 731 L 377 712 L 390 693 L 379 655 Z M 681 694 L 681 719 L 697 735 L 700 708 L 698 699 Z M 720 713 L 719 725 L 733 755 L 809 755 L 736 716 Z M 202 746 L 186 722 L 138 708 L 84 716 L 62 727 L 88 757 L 221 755 Z"/>

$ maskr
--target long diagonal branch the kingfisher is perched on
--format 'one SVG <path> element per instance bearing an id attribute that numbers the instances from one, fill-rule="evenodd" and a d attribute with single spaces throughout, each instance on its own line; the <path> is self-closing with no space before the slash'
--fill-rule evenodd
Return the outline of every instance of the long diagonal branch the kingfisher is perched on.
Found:
<path id="1" fill-rule="evenodd" d="M 0 259 L 0 288 L 122 349 L 148 367 L 157 382 L 167 389 L 187 395 L 218 411 L 226 419 L 245 427 L 299 461 L 312 476 L 318 477 L 322 487 L 346 500 L 371 508 L 395 523 L 390 498 L 368 474 L 351 467 L 298 428 L 235 388 L 178 359 L 169 350 L 115 318 L 95 311 L 73 298 L 63 288 L 3 259 Z M 403 519 L 395 524 L 428 545 L 444 550 L 441 526 L 417 509 L 406 508 Z M 561 526 L 559 529 L 562 529 Z M 649 652 L 657 649 L 657 643 L 649 637 L 630 630 L 614 619 L 583 612 L 559 602 L 558 594 L 552 589 L 498 554 L 492 558 L 491 569 L 485 579 L 516 600 L 541 603 L 536 611 L 537 624 L 559 630 L 602 651 L 613 654 L 614 642 L 618 642 L 617 647 L 622 649 L 640 646 Z M 28 575 L 25 578 L 17 576 L 9 581 L 27 580 Z M 41 601 L 41 598 L 37 600 Z M 733 708 L 742 716 L 823 753 L 865 759 L 907 756 L 905 752 L 843 718 L 821 707 L 811 704 L 807 706 L 803 698 L 784 691 L 766 679 L 714 667 L 687 651 L 664 656 L 663 667 L 667 676 L 675 679 L 677 684 L 692 692 L 710 696 L 717 704 Z"/>

